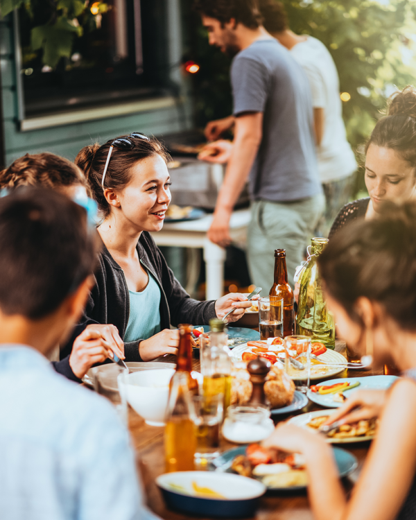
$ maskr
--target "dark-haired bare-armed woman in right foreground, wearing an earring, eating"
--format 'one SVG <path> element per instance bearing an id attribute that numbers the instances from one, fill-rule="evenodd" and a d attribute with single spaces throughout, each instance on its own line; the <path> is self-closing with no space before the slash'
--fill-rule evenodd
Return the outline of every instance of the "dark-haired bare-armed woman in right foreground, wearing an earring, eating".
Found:
<path id="1" fill-rule="evenodd" d="M 394 363 L 402 377 L 386 391 L 356 391 L 328 421 L 379 417 L 377 436 L 349 499 L 323 435 L 283 424 L 265 444 L 304 455 L 315 519 L 415 519 L 415 203 L 386 203 L 376 218 L 341 229 L 320 255 L 318 268 L 339 336 L 371 355 L 374 368 Z"/>

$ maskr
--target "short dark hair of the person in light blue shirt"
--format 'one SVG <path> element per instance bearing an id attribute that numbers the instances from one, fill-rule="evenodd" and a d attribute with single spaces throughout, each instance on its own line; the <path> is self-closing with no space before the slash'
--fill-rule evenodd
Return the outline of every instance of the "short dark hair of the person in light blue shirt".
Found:
<path id="1" fill-rule="evenodd" d="M 51 314 L 92 273 L 95 244 L 85 209 L 63 194 L 22 187 L 1 197 L 1 311 Z"/>

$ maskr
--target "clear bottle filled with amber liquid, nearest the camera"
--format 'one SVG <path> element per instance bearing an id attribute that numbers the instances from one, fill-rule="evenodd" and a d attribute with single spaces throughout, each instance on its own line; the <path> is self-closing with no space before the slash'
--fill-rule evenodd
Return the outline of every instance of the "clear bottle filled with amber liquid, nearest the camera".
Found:
<path id="1" fill-rule="evenodd" d="M 166 410 L 164 433 L 166 472 L 193 471 L 196 435 L 191 420 L 191 399 L 187 372 L 176 372 L 172 378 Z"/>

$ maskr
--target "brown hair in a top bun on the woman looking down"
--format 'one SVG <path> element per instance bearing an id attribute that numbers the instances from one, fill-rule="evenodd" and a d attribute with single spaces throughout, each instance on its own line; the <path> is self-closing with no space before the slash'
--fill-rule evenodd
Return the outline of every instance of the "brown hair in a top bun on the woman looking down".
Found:
<path id="1" fill-rule="evenodd" d="M 390 96 L 387 115 L 377 121 L 370 144 L 392 148 L 400 157 L 416 168 L 416 90 L 408 85 L 401 92 Z"/>

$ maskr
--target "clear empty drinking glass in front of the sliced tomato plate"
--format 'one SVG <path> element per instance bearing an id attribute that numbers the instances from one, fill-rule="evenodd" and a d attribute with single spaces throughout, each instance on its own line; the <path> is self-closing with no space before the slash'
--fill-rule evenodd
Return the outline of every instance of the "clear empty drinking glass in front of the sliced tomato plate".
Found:
<path id="1" fill-rule="evenodd" d="M 295 379 L 296 390 L 306 394 L 311 384 L 311 338 L 309 336 L 286 336 L 284 338 L 285 360 L 284 368 L 286 374 Z M 301 358 L 297 358 L 302 354 Z M 297 358 L 304 365 L 304 370 L 298 370 L 289 358 Z"/>

